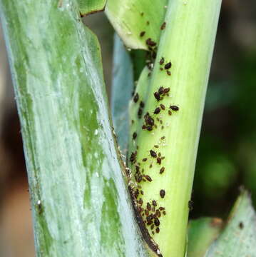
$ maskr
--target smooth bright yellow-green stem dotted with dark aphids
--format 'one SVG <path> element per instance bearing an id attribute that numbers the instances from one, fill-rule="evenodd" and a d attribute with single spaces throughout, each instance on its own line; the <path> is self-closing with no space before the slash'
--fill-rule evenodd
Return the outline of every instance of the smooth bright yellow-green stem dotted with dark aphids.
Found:
<path id="1" fill-rule="evenodd" d="M 151 230 L 151 225 L 148 226 L 163 256 L 183 257 L 185 254 L 188 201 L 193 186 L 220 4 L 220 0 L 169 1 L 166 26 L 160 36 L 150 84 L 146 94 L 142 96 L 145 101 L 143 116 L 148 112 L 158 127 L 153 126 L 152 131 L 142 130 L 141 127 L 145 124 L 142 116 L 140 130 L 136 131 L 137 138 L 130 138 L 130 145 L 135 142 L 135 146 L 138 146 L 136 161 L 131 166 L 133 172 L 135 173 L 135 166 L 140 166 L 140 172 L 152 178 L 151 182 L 145 179 L 139 183 L 143 195 L 140 194 L 138 200 L 142 198 L 144 209 L 146 203 L 152 206 L 152 200 L 155 200 L 166 211 L 166 215 L 162 213 L 159 218 L 160 233 L 156 233 L 155 228 Z M 165 62 L 160 65 L 162 57 Z M 169 69 L 171 76 L 164 69 L 169 61 L 172 64 Z M 163 71 L 160 71 L 161 67 Z M 157 101 L 154 93 L 160 86 L 170 88 L 170 92 L 163 100 Z M 138 88 L 140 89 L 139 85 Z M 155 108 L 160 104 L 165 106 L 165 110 L 154 114 Z M 173 111 L 169 108 L 171 105 L 178 106 L 179 110 Z M 138 110 L 139 101 L 134 106 Z M 171 116 L 168 111 L 171 111 Z M 133 134 L 133 125 L 131 129 L 130 134 Z M 151 156 L 150 150 L 165 157 L 161 164 Z M 142 161 L 143 158 L 147 158 L 147 161 Z M 162 167 L 165 167 L 165 171 L 160 174 Z M 160 197 L 161 189 L 165 190 L 164 198 Z"/>

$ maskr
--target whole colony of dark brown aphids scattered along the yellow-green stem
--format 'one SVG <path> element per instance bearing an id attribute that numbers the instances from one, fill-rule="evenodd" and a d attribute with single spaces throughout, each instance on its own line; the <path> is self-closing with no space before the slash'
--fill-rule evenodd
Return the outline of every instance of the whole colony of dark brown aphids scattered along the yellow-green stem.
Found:
<path id="1" fill-rule="evenodd" d="M 144 16 L 144 13 L 140 13 L 140 16 Z M 149 21 L 146 21 L 146 25 L 150 24 Z M 166 22 L 160 26 L 160 30 L 164 30 L 166 27 Z M 149 73 L 148 76 L 151 75 L 151 72 L 154 68 L 155 59 L 157 57 L 158 46 L 157 43 L 147 36 L 146 31 L 140 31 L 140 38 L 145 38 L 145 45 L 148 47 L 147 51 L 147 60 L 146 66 L 148 66 Z M 172 63 L 170 61 L 165 61 L 164 57 L 161 57 L 159 60 L 160 71 L 165 71 L 168 76 L 171 75 L 170 69 L 172 67 Z M 135 104 L 138 104 L 138 119 L 143 119 L 141 124 L 141 129 L 143 131 L 153 132 L 156 129 L 163 130 L 164 124 L 162 120 L 162 114 L 165 112 L 170 116 L 173 114 L 173 111 L 179 111 L 179 107 L 175 105 L 165 106 L 163 99 L 166 96 L 169 96 L 170 88 L 160 86 L 160 88 L 153 92 L 154 99 L 156 100 L 157 106 L 155 106 L 154 110 L 144 111 L 145 104 L 143 101 L 140 101 L 140 96 L 138 93 L 133 95 L 133 101 Z M 134 121 L 132 120 L 132 124 Z M 168 126 L 168 125 L 166 125 Z M 140 131 L 134 131 L 132 133 L 133 141 L 135 142 L 138 138 L 138 134 Z M 165 207 L 160 206 L 159 203 L 155 199 L 150 199 L 150 201 L 143 202 L 143 183 L 153 183 L 153 178 L 148 175 L 147 169 L 154 166 L 158 167 L 158 174 L 160 176 L 163 173 L 166 173 L 165 166 L 163 166 L 163 160 L 165 156 L 162 156 L 160 152 L 160 146 L 165 145 L 165 136 L 161 136 L 159 143 L 155 144 L 151 149 L 148 150 L 146 156 L 143 156 L 140 160 L 138 160 L 138 146 L 136 146 L 135 151 L 130 153 L 129 161 L 131 166 L 133 166 L 133 178 L 135 183 L 133 184 L 133 197 L 135 201 L 136 211 L 140 214 L 140 217 L 143 219 L 143 223 L 145 227 L 148 228 L 148 231 L 151 231 L 151 234 L 160 233 L 160 217 L 166 215 Z M 154 168 L 155 169 L 155 168 Z M 168 192 L 167 192 L 168 193 Z M 159 188 L 159 197 L 165 198 L 165 189 Z M 160 255 L 161 256 L 161 255 Z"/>

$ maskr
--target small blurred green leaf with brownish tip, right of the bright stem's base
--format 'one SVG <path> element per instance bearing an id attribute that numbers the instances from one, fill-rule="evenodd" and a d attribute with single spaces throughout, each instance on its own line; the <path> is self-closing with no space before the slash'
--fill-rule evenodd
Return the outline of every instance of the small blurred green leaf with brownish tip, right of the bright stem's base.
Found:
<path id="1" fill-rule="evenodd" d="M 203 257 L 222 228 L 220 218 L 198 218 L 188 226 L 188 257 Z"/>

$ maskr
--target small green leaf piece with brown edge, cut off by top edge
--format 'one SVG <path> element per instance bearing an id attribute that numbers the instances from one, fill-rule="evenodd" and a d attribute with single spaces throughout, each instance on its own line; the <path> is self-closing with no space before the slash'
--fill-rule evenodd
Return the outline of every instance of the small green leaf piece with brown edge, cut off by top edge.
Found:
<path id="1" fill-rule="evenodd" d="M 64 1 L 64 0 L 59 0 Z M 106 6 L 106 0 L 77 0 L 79 3 L 79 11 L 82 15 L 93 14 L 103 11 Z"/>

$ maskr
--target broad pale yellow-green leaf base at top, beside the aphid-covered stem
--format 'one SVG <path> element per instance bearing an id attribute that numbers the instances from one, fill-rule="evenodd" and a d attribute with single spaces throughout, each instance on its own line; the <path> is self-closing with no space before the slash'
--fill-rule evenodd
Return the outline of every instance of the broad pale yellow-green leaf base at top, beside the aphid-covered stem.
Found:
<path id="1" fill-rule="evenodd" d="M 146 39 L 160 39 L 167 4 L 168 0 L 108 0 L 106 14 L 126 46 L 148 49 Z"/>

